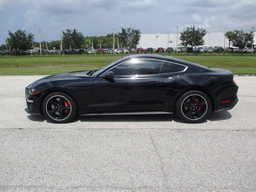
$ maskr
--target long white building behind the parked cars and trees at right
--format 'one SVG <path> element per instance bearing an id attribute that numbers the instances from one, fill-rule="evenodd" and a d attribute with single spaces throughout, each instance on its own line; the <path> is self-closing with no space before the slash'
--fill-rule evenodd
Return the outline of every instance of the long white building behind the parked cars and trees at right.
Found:
<path id="1" fill-rule="evenodd" d="M 224 45 L 225 43 L 225 45 Z M 172 47 L 176 48 L 177 44 L 177 34 L 165 34 L 165 33 L 156 33 L 156 34 L 141 34 L 140 42 L 137 47 L 142 48 L 167 48 Z M 256 32 L 254 32 L 254 47 L 256 47 Z M 210 32 L 204 36 L 204 45 L 207 47 L 222 46 L 228 47 L 228 39 L 225 38 L 224 32 Z M 180 34 L 178 34 L 178 47 L 182 47 L 180 41 Z"/>

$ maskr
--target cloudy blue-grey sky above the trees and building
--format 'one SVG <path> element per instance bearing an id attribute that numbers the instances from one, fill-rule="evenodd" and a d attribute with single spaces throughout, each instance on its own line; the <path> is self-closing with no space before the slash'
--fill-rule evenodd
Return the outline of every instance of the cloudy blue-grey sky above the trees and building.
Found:
<path id="1" fill-rule="evenodd" d="M 32 32 L 38 41 L 59 39 L 61 30 L 77 28 L 84 36 L 120 32 L 174 33 L 195 25 L 208 32 L 256 26 L 256 0 L 0 0 L 0 44 L 8 30 Z"/>

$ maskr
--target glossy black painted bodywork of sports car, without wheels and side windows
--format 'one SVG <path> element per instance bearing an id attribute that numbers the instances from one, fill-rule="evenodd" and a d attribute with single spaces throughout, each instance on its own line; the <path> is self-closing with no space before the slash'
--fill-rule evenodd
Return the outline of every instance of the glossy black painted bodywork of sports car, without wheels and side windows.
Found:
<path id="1" fill-rule="evenodd" d="M 88 75 L 89 71 L 68 72 L 37 80 L 26 88 L 28 113 L 42 114 L 42 100 L 50 92 L 66 92 L 74 98 L 79 115 L 104 112 L 164 111 L 173 113 L 177 99 L 189 90 L 201 90 L 212 100 L 212 110 L 232 108 L 238 101 L 232 72 L 210 69 L 184 60 L 140 54 L 125 56 L 114 66 L 132 58 L 162 60 L 188 66 L 184 72 L 114 76 L 114 79 Z M 111 66 L 110 68 L 112 68 Z M 30 95 L 28 88 L 35 88 L 39 95 Z M 228 103 L 222 101 L 230 100 Z"/>

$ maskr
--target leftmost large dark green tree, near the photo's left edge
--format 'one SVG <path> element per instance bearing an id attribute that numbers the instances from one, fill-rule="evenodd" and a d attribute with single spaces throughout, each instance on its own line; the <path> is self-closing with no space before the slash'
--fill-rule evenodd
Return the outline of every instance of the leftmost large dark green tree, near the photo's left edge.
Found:
<path id="1" fill-rule="evenodd" d="M 12 49 L 26 51 L 32 48 L 32 41 L 34 40 L 34 35 L 32 33 L 27 33 L 25 30 L 18 29 L 14 33 L 9 30 L 8 34 L 9 37 L 6 41 Z"/>

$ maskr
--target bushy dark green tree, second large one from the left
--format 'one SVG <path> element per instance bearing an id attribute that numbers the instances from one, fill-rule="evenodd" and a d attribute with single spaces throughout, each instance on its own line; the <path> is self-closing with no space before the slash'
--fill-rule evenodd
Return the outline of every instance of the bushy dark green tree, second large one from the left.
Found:
<path id="1" fill-rule="evenodd" d="M 66 29 L 65 31 L 62 31 L 62 40 L 64 48 L 80 48 L 83 44 L 84 36 L 82 32 L 78 32 L 75 28 L 72 29 Z"/>

